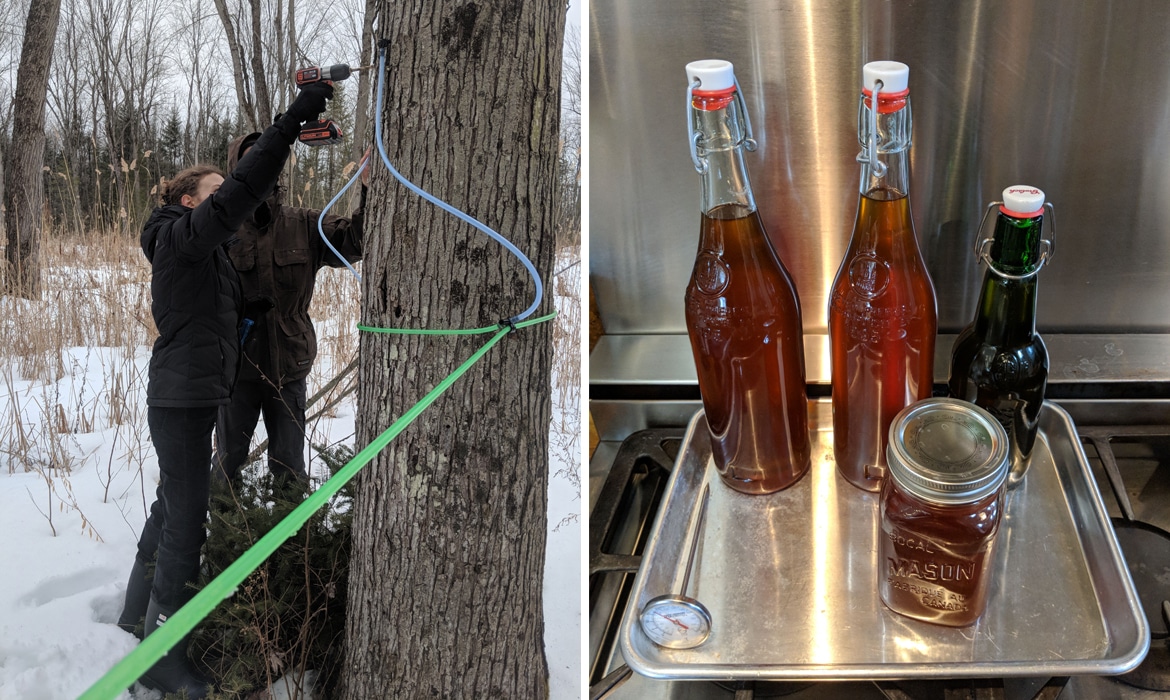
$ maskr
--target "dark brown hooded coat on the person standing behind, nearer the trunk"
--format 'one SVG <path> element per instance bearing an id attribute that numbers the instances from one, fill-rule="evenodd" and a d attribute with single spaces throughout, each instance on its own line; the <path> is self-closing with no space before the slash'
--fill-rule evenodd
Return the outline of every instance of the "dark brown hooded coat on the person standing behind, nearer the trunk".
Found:
<path id="1" fill-rule="evenodd" d="M 256 136 L 249 133 L 229 144 L 228 167 L 241 146 Z M 349 219 L 326 215 L 322 222 L 329 242 L 350 262 L 362 259 L 365 187 L 362 203 Z M 316 210 L 283 206 L 274 193 L 243 222 L 228 249 L 247 300 L 247 316 L 254 323 L 243 344 L 241 380 L 263 378 L 283 386 L 307 377 L 312 369 L 317 332 L 309 304 L 317 270 L 344 266 L 322 240 L 319 217 Z"/>

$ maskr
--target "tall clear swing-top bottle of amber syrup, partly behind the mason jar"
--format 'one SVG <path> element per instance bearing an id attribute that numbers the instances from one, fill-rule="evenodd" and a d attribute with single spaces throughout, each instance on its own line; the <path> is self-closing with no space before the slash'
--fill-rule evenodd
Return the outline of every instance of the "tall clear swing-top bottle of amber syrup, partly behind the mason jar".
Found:
<path id="1" fill-rule="evenodd" d="M 828 334 L 837 467 L 878 490 L 890 421 L 930 396 L 938 321 L 910 218 L 909 68 L 876 61 L 862 75 L 858 218 L 830 293 Z"/>

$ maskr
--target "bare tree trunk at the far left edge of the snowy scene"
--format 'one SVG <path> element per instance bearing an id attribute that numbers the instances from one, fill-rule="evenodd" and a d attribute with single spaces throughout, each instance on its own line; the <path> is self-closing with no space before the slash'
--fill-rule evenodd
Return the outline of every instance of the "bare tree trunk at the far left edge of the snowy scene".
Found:
<path id="1" fill-rule="evenodd" d="M 44 98 L 61 0 L 32 0 L 13 98 L 12 144 L 5 155 L 5 293 L 41 297 L 40 238 L 44 203 Z"/>

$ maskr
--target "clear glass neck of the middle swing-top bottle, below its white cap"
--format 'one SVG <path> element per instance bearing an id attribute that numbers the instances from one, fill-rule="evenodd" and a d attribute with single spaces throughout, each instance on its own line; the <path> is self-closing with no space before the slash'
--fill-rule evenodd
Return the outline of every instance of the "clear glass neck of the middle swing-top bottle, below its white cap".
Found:
<path id="1" fill-rule="evenodd" d="M 890 200 L 910 193 L 910 97 L 878 94 L 878 114 L 870 111 L 872 97 L 861 94 L 858 104 L 858 142 L 861 153 L 859 192 L 872 199 Z M 876 128 L 875 138 L 870 138 Z"/>

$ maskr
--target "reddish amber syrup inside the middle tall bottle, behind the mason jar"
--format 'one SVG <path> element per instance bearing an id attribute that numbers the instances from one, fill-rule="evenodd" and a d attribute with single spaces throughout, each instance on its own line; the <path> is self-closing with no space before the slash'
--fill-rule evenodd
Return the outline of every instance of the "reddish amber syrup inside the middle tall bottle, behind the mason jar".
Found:
<path id="1" fill-rule="evenodd" d="M 909 198 L 866 192 L 853 231 L 830 295 L 833 451 L 851 483 L 878 490 L 890 423 L 930 397 L 938 322 Z"/>

